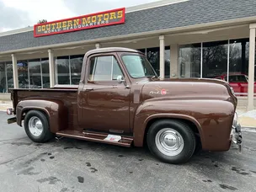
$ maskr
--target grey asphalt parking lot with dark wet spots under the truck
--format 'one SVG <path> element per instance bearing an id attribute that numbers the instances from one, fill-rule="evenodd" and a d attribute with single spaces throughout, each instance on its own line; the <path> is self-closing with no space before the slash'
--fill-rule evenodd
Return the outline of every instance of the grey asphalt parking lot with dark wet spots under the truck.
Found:
<path id="1" fill-rule="evenodd" d="M 147 148 L 61 139 L 29 140 L 0 112 L 0 191 L 256 191 L 256 132 L 243 131 L 243 153 L 200 152 L 171 165 Z"/>

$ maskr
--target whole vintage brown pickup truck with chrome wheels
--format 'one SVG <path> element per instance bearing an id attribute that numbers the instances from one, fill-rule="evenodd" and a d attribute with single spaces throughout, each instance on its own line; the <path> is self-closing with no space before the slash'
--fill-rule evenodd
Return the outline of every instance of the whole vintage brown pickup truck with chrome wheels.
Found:
<path id="1" fill-rule="evenodd" d="M 126 48 L 88 51 L 79 85 L 11 89 L 17 122 L 32 141 L 53 136 L 122 147 L 147 145 L 166 163 L 185 163 L 200 147 L 241 148 L 237 98 L 213 79 L 162 79 L 147 57 Z"/>

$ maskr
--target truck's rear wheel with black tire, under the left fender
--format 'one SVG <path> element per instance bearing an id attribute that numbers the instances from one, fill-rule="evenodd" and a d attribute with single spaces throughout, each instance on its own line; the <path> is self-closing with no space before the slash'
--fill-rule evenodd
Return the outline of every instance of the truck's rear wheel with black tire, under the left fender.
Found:
<path id="1" fill-rule="evenodd" d="M 25 115 L 24 129 L 27 136 L 35 142 L 49 141 L 53 137 L 46 115 L 38 110 L 30 110 Z"/>

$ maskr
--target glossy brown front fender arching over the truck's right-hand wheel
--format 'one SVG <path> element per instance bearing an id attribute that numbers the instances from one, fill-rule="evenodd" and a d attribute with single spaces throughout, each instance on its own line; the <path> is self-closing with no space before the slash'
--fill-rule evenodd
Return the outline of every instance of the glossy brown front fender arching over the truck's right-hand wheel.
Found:
<path id="1" fill-rule="evenodd" d="M 234 105 L 225 100 L 147 100 L 136 110 L 134 145 L 141 147 L 147 123 L 157 119 L 181 119 L 194 123 L 204 150 L 227 151 L 235 113 Z"/>

